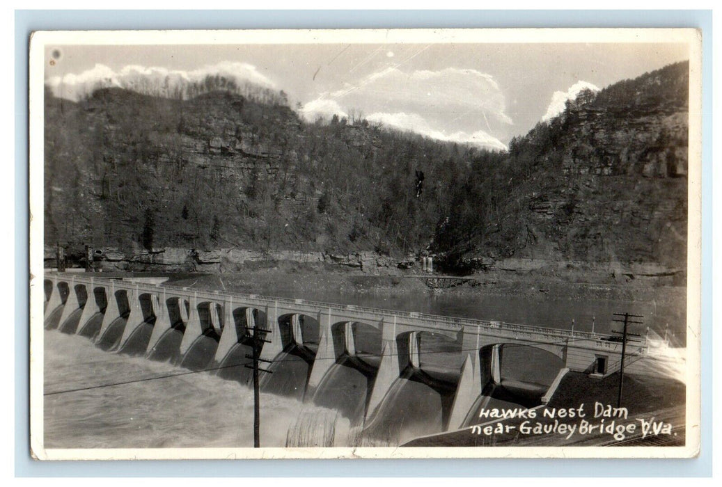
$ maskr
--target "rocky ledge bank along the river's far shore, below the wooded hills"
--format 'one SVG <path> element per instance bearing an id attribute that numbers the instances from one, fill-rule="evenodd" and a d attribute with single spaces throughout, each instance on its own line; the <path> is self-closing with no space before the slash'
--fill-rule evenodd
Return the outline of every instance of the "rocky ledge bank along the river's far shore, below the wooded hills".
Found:
<path id="1" fill-rule="evenodd" d="M 119 250 L 115 247 L 91 249 L 92 268 L 101 272 L 168 272 L 168 273 L 248 273 L 281 272 L 311 274 L 346 274 L 349 276 L 410 276 L 427 275 L 422 257 L 406 255 L 391 257 L 373 251 L 356 253 L 304 252 L 297 250 L 243 250 L 235 247 L 196 250 L 183 247 L 161 247 Z M 54 247 L 45 248 L 45 266 L 56 265 Z M 443 258 L 433 257 L 433 275 L 458 276 L 458 272 L 444 268 Z M 69 266 L 84 267 L 84 253 L 69 253 Z M 670 268 L 658 263 L 586 262 L 551 260 L 544 258 L 484 258 L 477 271 L 464 276 L 471 278 L 471 286 L 498 287 L 521 281 L 532 290 L 545 292 L 557 281 L 562 283 L 604 286 L 684 286 L 683 266 Z"/>

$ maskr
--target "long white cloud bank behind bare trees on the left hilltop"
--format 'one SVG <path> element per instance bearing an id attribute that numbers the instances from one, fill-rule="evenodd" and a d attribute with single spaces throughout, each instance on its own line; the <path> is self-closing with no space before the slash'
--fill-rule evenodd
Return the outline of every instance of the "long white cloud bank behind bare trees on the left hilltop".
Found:
<path id="1" fill-rule="evenodd" d="M 171 70 L 158 66 L 124 66 L 120 71 L 113 71 L 108 66 L 96 64 L 92 69 L 80 74 L 53 76 L 47 84 L 53 95 L 79 100 L 105 87 L 121 87 L 139 92 L 151 92 L 160 96 L 172 96 L 177 88 L 186 87 L 193 82 L 201 82 L 208 75 L 225 76 L 236 83 L 250 82 L 258 86 L 277 89 L 276 83 L 261 74 L 248 63 L 223 61 L 211 66 L 204 66 L 193 71 Z"/>

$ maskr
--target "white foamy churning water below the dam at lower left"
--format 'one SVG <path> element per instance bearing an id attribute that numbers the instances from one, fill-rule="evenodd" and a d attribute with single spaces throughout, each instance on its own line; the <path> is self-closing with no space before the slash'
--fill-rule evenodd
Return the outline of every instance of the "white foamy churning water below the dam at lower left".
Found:
<path id="1" fill-rule="evenodd" d="M 45 447 L 253 447 L 250 388 L 208 372 L 163 377 L 189 371 L 102 351 L 78 335 L 44 336 Z M 336 446 L 348 446 L 348 421 L 335 412 L 261 394 L 261 447 L 285 447 L 299 415 L 313 411 L 335 421 Z M 328 441 L 329 426 L 319 430 L 303 443 Z"/>

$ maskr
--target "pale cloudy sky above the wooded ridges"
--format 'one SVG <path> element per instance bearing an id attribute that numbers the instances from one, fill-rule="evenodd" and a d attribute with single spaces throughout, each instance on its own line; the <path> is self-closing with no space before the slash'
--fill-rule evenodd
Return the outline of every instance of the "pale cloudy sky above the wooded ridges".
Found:
<path id="1" fill-rule="evenodd" d="M 671 43 L 46 45 L 45 82 L 74 99 L 99 80 L 132 87 L 219 73 L 284 90 L 311 121 L 361 115 L 505 149 L 580 89 L 687 58 L 687 44 Z"/>

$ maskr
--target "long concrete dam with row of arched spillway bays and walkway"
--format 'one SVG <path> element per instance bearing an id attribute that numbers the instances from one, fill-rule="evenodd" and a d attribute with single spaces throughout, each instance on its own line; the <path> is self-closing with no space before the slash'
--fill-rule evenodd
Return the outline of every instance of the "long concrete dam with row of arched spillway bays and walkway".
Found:
<path id="1" fill-rule="evenodd" d="M 87 274 L 47 273 L 43 285 L 45 329 L 242 384 L 248 329 L 268 330 L 261 359 L 273 374 L 262 374 L 262 392 L 334 409 L 396 444 L 477 424 L 482 408 L 548 403 L 567 372 L 606 377 L 622 352 L 596 333 Z M 628 343 L 625 371 L 658 373 L 659 349 Z"/>

